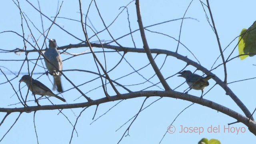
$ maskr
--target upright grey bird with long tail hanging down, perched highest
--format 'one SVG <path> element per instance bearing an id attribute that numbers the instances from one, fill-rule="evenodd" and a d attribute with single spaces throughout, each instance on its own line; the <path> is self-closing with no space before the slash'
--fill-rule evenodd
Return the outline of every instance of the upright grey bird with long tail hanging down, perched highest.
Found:
<path id="1" fill-rule="evenodd" d="M 50 64 L 49 62 L 47 62 L 46 59 L 44 59 L 49 74 L 52 75 L 54 78 L 53 90 L 55 90 L 55 87 L 57 86 L 58 92 L 63 92 L 60 81 L 61 73 L 56 70 L 56 68 L 59 71 L 62 70 L 62 60 L 60 54 L 58 53 L 57 43 L 55 39 L 49 40 L 49 48 L 44 52 L 44 56 L 52 63 Z M 52 65 L 54 65 L 56 68 L 54 68 L 54 66 Z"/>

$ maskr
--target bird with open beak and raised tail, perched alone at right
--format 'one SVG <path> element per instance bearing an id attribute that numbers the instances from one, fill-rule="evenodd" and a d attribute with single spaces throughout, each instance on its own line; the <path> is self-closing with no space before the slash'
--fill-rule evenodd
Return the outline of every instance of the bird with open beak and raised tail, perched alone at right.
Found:
<path id="1" fill-rule="evenodd" d="M 186 78 L 186 82 L 190 87 L 190 89 L 202 90 L 201 98 L 203 96 L 204 87 L 209 86 L 208 80 L 214 77 L 211 75 L 202 77 L 202 76 L 199 76 L 198 74 L 193 74 L 190 70 L 184 70 L 182 72 L 178 72 L 178 74 L 181 74 L 179 76 Z"/>

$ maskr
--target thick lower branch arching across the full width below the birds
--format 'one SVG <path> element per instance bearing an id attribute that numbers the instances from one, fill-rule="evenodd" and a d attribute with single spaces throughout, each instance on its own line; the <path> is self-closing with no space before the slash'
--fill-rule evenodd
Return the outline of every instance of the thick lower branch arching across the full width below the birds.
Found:
<path id="1" fill-rule="evenodd" d="M 22 108 L 0 108 L 0 112 L 8 112 L 8 113 L 21 112 L 22 113 L 22 112 L 32 112 L 32 111 L 38 111 L 38 110 L 83 108 L 86 106 L 98 105 L 98 104 L 102 104 L 105 102 L 137 98 L 137 97 L 142 97 L 142 96 L 146 96 L 146 97 L 161 96 L 161 97 L 178 98 L 178 99 L 182 99 L 182 100 L 188 100 L 190 102 L 194 102 L 194 103 L 197 103 L 197 104 L 200 104 L 203 106 L 207 106 L 209 108 L 217 110 L 218 112 L 222 112 L 228 116 L 231 116 L 232 118 L 235 118 L 238 122 L 242 122 L 243 124 L 248 126 L 248 129 L 250 130 L 250 132 L 252 132 L 254 135 L 256 135 L 256 122 L 254 122 L 253 120 L 249 120 L 249 118 L 243 116 L 242 114 L 239 114 L 238 112 L 235 112 L 234 110 L 231 110 L 225 106 L 222 106 L 222 105 L 212 102 L 210 100 L 201 99 L 197 96 L 192 96 L 190 94 L 184 94 L 184 93 L 176 92 L 173 90 L 130 92 L 127 94 L 120 94 L 119 96 L 110 96 L 109 98 L 104 97 L 104 98 L 101 98 L 98 100 L 92 100 L 89 102 L 77 103 L 77 104 L 31 106 L 31 107 L 27 107 L 26 110 L 24 109 L 24 107 L 22 107 Z"/>

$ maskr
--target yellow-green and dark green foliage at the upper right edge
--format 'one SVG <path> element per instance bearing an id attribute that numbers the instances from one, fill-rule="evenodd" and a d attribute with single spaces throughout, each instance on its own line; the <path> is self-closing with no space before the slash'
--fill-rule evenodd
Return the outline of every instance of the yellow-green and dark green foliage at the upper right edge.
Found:
<path id="1" fill-rule="evenodd" d="M 238 38 L 238 54 L 249 54 L 240 56 L 243 60 L 247 56 L 254 56 L 256 53 L 256 22 L 248 30 L 244 28 Z"/>

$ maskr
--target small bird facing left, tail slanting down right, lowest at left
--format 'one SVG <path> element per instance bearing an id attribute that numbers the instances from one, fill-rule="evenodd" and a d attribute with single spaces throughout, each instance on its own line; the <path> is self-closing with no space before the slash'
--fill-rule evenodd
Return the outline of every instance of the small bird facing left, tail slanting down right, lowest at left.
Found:
<path id="1" fill-rule="evenodd" d="M 24 75 L 24 76 L 22 76 L 22 78 L 20 79 L 19 82 L 25 82 L 26 85 L 28 86 L 28 89 L 32 92 L 32 94 L 38 94 L 41 96 L 54 96 L 54 97 L 62 100 L 63 102 L 66 102 L 66 100 L 64 98 L 61 98 L 61 97 L 57 96 L 56 94 L 54 94 L 44 84 L 42 84 L 38 80 L 34 80 L 33 78 L 31 78 L 32 79 L 31 80 L 30 78 L 31 77 L 29 75 Z M 31 80 L 31 84 L 30 84 L 30 80 Z"/>

